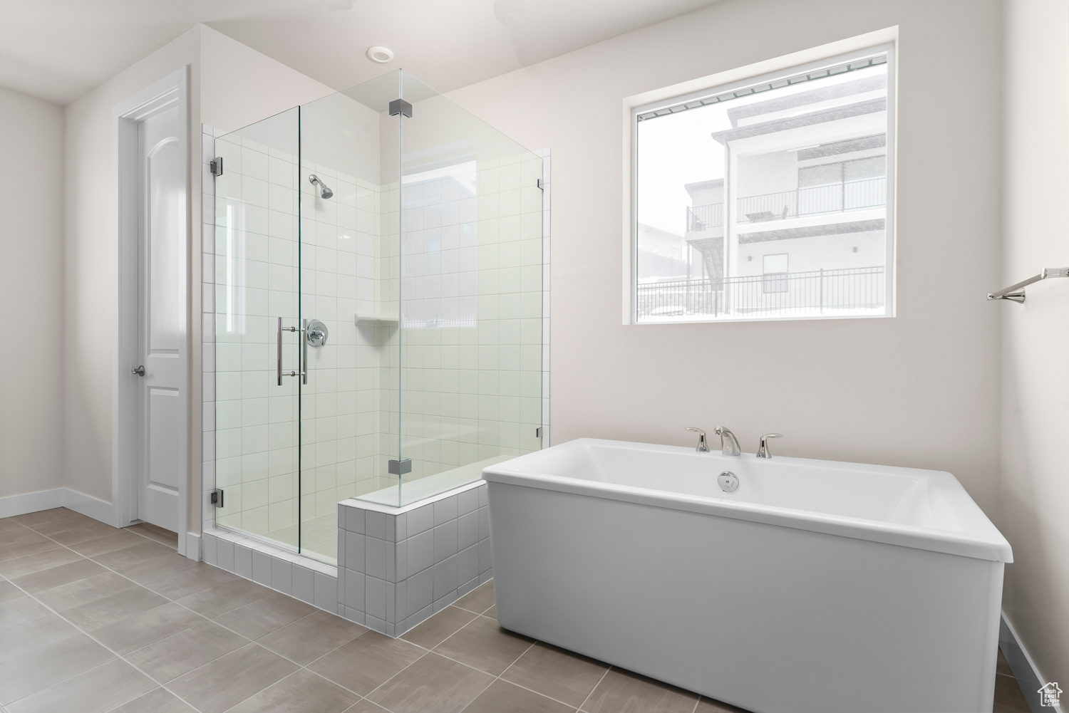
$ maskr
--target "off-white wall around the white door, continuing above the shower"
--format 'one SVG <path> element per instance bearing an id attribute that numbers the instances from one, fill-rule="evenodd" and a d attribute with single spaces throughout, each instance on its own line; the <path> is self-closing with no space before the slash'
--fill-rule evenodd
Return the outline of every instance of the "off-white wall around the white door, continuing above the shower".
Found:
<path id="1" fill-rule="evenodd" d="M 65 108 L 63 478 L 68 489 L 111 500 L 111 372 L 113 342 L 112 107 L 146 84 L 190 65 L 190 213 L 202 213 L 201 127 L 237 128 L 331 90 L 204 26 L 108 80 Z M 203 98 L 203 100 L 202 100 Z M 210 206 L 211 207 L 211 206 Z M 213 220 L 208 215 L 207 220 Z M 191 220 L 191 250 L 202 245 L 201 221 Z M 191 284 L 202 265 L 190 262 Z M 202 313 L 190 291 L 191 313 Z M 206 308 L 211 311 L 211 306 Z M 190 391 L 200 393 L 203 357 L 199 321 L 190 329 Z M 200 529 L 203 413 L 190 415 L 190 531 Z M 211 425 L 211 424 L 207 424 Z M 210 436 L 208 436 L 210 437 Z M 210 466 L 204 466 L 210 467 Z"/>

